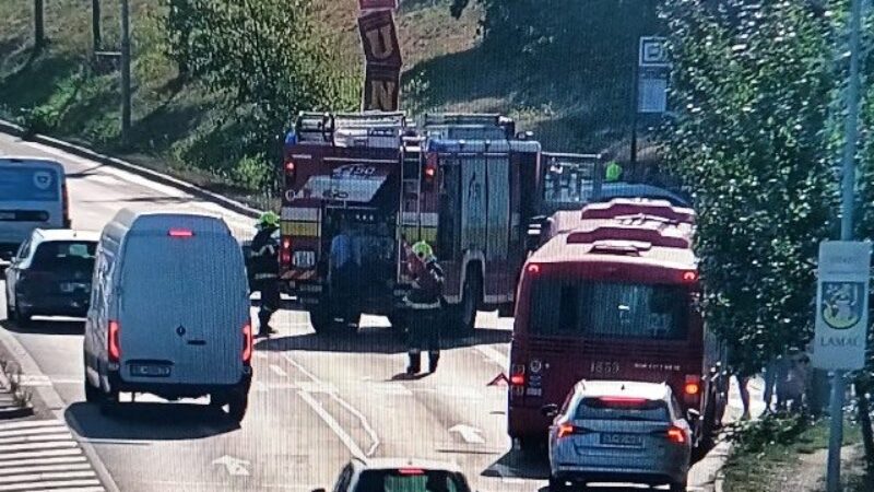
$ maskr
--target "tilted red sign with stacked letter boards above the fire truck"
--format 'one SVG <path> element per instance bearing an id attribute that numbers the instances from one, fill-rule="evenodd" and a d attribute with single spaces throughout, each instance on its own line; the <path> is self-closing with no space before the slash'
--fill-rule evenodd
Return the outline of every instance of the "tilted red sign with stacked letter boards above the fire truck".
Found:
<path id="1" fill-rule="evenodd" d="M 400 108 L 401 45 L 392 10 L 397 0 L 358 0 L 358 32 L 365 58 L 364 110 Z"/>

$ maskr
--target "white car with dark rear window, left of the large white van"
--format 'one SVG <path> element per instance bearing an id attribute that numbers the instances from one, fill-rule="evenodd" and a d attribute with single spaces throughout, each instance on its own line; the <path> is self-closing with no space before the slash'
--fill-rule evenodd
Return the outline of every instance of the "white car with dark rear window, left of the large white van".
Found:
<path id="1" fill-rule="evenodd" d="M 20 327 L 34 316 L 84 318 L 99 234 L 33 231 L 5 271 L 7 317 Z"/>

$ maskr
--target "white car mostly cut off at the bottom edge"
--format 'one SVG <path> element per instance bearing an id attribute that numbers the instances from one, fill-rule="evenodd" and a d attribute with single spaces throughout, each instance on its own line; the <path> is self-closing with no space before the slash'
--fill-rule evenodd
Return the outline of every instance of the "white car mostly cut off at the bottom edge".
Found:
<path id="1" fill-rule="evenodd" d="M 332 492 L 471 492 L 454 464 L 422 459 L 353 459 L 340 472 Z M 316 489 L 312 492 L 326 492 Z"/>

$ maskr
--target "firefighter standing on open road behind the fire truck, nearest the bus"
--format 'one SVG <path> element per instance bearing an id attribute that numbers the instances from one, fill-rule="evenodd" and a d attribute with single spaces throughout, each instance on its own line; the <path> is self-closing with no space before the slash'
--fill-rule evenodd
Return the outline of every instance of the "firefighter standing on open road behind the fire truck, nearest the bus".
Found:
<path id="1" fill-rule="evenodd" d="M 444 285 L 444 271 L 437 263 L 432 247 L 421 241 L 413 245 L 412 253 L 410 270 L 413 289 L 404 298 L 410 325 L 410 365 L 406 367 L 409 375 L 421 371 L 423 350 L 428 351 L 428 372 L 437 371 L 437 361 L 440 360 Z"/>

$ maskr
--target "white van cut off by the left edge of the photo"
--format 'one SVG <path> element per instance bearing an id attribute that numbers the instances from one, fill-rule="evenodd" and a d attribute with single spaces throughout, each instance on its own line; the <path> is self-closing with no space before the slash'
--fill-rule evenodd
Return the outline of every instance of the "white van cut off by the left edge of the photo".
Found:
<path id="1" fill-rule="evenodd" d="M 63 166 L 38 157 L 0 157 L 0 268 L 37 227 L 70 227 Z"/>

